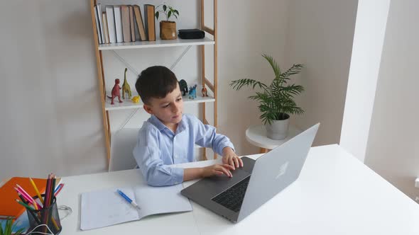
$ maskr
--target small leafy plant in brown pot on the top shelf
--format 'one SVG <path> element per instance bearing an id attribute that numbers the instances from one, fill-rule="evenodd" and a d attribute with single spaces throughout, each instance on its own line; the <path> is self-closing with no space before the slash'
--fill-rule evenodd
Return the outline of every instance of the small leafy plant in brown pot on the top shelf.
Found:
<path id="1" fill-rule="evenodd" d="M 166 16 L 165 21 L 160 21 L 160 39 L 162 40 L 172 40 L 178 38 L 176 35 L 176 22 L 169 21 L 170 17 L 175 16 L 178 18 L 179 11 L 173 8 L 172 6 L 168 6 L 166 4 L 160 4 L 156 7 L 156 9 L 160 10 L 156 11 L 156 19 L 158 20 L 158 16 L 160 16 L 160 12 Z"/>

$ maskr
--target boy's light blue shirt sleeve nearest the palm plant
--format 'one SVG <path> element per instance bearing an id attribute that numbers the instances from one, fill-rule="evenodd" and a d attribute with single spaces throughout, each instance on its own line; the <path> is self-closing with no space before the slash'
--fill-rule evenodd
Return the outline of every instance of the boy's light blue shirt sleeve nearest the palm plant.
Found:
<path id="1" fill-rule="evenodd" d="M 224 134 L 217 134 L 217 130 L 212 125 L 204 125 L 197 117 L 191 118 L 195 127 L 195 144 L 201 147 L 212 148 L 217 154 L 222 156 L 222 149 L 234 145 Z"/>

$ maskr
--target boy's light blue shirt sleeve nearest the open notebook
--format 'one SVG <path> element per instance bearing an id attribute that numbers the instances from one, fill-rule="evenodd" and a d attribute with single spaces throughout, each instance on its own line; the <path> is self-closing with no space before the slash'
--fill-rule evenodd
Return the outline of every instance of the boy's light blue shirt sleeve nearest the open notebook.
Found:
<path id="1" fill-rule="evenodd" d="M 183 168 L 163 164 L 158 147 L 157 131 L 143 130 L 138 132 L 133 154 L 138 167 L 148 185 L 166 186 L 183 182 Z"/>

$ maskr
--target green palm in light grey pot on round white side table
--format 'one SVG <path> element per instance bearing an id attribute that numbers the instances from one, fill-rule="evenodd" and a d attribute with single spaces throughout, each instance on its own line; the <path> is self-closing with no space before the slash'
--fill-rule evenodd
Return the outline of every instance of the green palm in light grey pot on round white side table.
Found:
<path id="1" fill-rule="evenodd" d="M 260 88 L 261 91 L 256 91 L 256 94 L 249 98 L 259 101 L 260 118 L 266 126 L 268 138 L 284 139 L 288 134 L 290 115 L 304 113 L 304 110 L 299 108 L 293 100 L 294 96 L 304 91 L 303 86 L 288 84 L 289 76 L 300 73 L 303 64 L 293 64 L 290 69 L 282 72 L 273 57 L 265 54 L 262 56 L 271 64 L 275 74 L 271 85 L 268 86 L 254 79 L 239 79 L 232 81 L 230 86 L 236 91 L 239 91 L 243 86 L 251 86 L 253 90 Z"/>

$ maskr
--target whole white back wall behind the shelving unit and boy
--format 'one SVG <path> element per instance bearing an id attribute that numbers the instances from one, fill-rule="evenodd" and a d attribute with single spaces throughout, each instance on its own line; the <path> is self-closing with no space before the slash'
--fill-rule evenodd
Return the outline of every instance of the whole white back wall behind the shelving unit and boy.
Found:
<path id="1" fill-rule="evenodd" d="M 124 2 L 141 5 L 140 1 Z M 178 28 L 199 25 L 199 4 L 193 4 L 199 1 L 173 2 L 179 4 L 181 14 Z M 246 142 L 244 130 L 259 123 L 259 113 L 256 103 L 246 100 L 251 93 L 232 91 L 227 84 L 245 76 L 271 77 L 261 53 L 283 62 L 286 2 L 219 1 L 219 132 L 231 137 L 239 154 L 258 151 Z M 106 171 L 91 21 L 88 1 L 2 3 L 0 178 L 45 177 L 50 171 L 60 176 Z M 272 26 L 261 27 L 268 21 Z M 170 66 L 182 52 L 183 48 L 172 48 L 119 53 L 141 71 L 152 64 Z M 198 52 L 192 47 L 175 67 L 178 78 L 191 83 L 197 79 Z M 141 56 L 146 55 L 145 61 Z M 124 65 L 111 52 L 104 52 L 104 63 L 107 78 L 123 77 Z M 136 74 L 130 71 L 128 76 L 134 88 Z M 186 112 L 197 112 L 197 108 Z M 138 113 L 126 127 L 141 125 L 146 116 L 141 110 Z M 111 113 L 112 129 L 121 127 L 129 115 L 131 111 Z"/>

